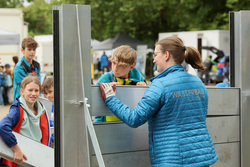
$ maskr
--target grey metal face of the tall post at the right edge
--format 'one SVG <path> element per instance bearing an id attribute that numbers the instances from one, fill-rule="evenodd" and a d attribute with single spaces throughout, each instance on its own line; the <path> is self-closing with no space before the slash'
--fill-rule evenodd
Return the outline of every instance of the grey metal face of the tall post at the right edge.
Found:
<path id="1" fill-rule="evenodd" d="M 241 165 L 250 164 L 250 11 L 235 12 L 235 86 L 241 88 Z"/>

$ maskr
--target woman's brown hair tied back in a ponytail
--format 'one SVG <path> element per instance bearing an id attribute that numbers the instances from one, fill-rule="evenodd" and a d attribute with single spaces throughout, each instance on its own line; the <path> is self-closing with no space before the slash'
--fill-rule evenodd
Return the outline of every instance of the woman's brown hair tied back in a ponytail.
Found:
<path id="1" fill-rule="evenodd" d="M 176 64 L 181 64 L 185 60 L 195 69 L 205 69 L 199 51 L 191 46 L 184 46 L 183 41 L 176 36 L 164 38 L 155 45 L 160 45 L 162 52 L 168 51 Z"/>

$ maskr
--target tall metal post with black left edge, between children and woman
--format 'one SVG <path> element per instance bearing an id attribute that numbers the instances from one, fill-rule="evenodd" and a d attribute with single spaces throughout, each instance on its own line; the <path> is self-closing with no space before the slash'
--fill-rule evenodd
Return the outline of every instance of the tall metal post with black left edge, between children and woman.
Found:
<path id="1" fill-rule="evenodd" d="M 91 96 L 91 90 L 87 89 L 91 86 L 90 6 L 54 6 L 53 14 L 54 47 L 57 47 L 54 48 L 55 162 L 61 167 L 89 167 L 84 111 L 85 97 Z"/>

